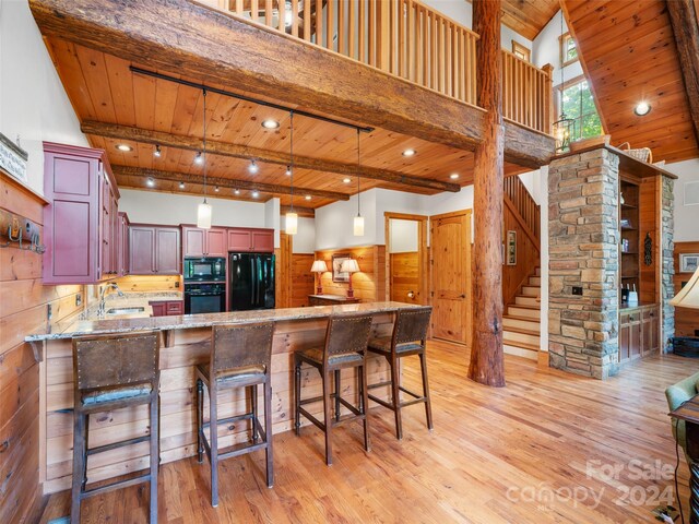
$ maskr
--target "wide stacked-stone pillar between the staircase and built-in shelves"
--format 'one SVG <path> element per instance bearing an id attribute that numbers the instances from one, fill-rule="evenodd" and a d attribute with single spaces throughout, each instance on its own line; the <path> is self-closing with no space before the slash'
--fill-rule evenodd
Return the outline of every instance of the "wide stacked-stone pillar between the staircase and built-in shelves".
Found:
<path id="1" fill-rule="evenodd" d="M 597 379 L 618 370 L 618 164 L 600 148 L 548 170 L 549 365 Z"/>

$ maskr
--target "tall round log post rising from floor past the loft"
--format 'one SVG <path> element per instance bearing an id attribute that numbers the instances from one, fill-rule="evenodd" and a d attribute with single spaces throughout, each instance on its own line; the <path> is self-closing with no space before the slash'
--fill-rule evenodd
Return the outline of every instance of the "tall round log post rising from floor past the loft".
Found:
<path id="1" fill-rule="evenodd" d="M 500 0 L 473 1 L 473 29 L 481 35 L 476 50 L 477 103 L 488 111 L 484 140 L 474 157 L 473 343 L 469 378 L 505 385 L 502 355 L 502 59 Z"/>

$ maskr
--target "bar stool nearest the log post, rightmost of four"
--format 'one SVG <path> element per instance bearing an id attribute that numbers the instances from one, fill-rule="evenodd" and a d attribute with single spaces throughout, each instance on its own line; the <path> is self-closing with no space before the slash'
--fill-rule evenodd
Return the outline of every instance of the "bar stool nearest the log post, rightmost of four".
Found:
<path id="1" fill-rule="evenodd" d="M 425 357 L 425 343 L 427 340 L 427 329 L 429 327 L 429 317 L 431 307 L 401 309 L 395 313 L 393 333 L 391 336 L 371 338 L 369 341 L 369 352 L 382 355 L 389 362 L 391 380 L 370 384 L 369 390 L 384 385 L 391 386 L 391 402 L 369 395 L 374 402 L 392 409 L 395 414 L 395 437 L 403 438 L 403 426 L 401 422 L 401 408 L 413 404 L 425 403 L 425 414 L 427 416 L 427 428 L 433 429 L 433 409 L 429 402 L 429 386 L 427 384 L 427 360 Z M 423 394 L 418 395 L 401 385 L 400 359 L 417 355 L 419 357 L 420 370 L 423 374 Z M 401 402 L 401 391 L 413 397 L 412 401 Z"/>

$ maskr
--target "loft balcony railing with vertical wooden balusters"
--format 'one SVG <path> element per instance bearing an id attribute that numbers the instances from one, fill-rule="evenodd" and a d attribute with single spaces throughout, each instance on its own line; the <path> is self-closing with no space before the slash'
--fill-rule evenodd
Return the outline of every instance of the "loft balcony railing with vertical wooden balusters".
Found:
<path id="1" fill-rule="evenodd" d="M 206 0 L 204 0 L 206 1 Z M 476 105 L 478 35 L 417 0 L 208 0 L 254 24 Z M 550 134 L 550 71 L 502 51 L 503 116 Z"/>

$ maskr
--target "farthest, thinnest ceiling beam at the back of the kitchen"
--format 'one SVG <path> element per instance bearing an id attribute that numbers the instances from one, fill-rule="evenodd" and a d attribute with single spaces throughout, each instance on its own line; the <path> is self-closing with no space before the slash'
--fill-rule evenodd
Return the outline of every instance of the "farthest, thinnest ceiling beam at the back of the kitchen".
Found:
<path id="1" fill-rule="evenodd" d="M 209 144 L 209 142 L 206 142 L 206 144 Z M 190 175 L 187 172 L 162 171 L 158 169 L 144 169 L 141 167 L 130 166 L 111 166 L 111 171 L 116 177 L 139 177 L 143 179 L 153 178 L 155 180 L 165 180 L 168 182 L 188 182 L 199 184 L 204 183 L 204 177 L 202 177 L 201 175 Z M 237 180 L 233 178 L 208 176 L 206 184 L 211 187 L 218 186 L 220 188 L 229 189 L 258 190 L 262 193 L 271 194 L 292 194 L 292 188 L 289 186 L 280 186 L 276 183 L 258 183 L 251 182 L 249 180 Z M 322 191 L 311 188 L 294 188 L 294 194 L 297 194 L 299 196 L 310 194 L 311 196 L 320 196 L 322 199 L 332 200 L 350 200 L 350 195 L 346 193 L 340 193 L 337 191 Z"/>

